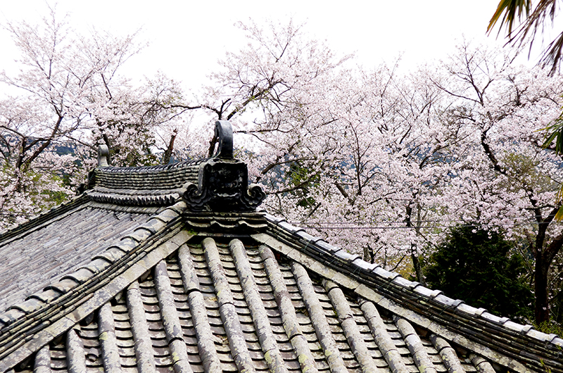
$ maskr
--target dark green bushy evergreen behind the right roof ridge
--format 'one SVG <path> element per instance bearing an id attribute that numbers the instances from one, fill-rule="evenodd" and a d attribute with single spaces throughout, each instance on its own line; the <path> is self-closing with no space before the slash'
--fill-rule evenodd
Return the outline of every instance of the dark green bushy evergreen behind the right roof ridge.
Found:
<path id="1" fill-rule="evenodd" d="M 524 258 L 502 234 L 474 227 L 452 229 L 424 267 L 426 282 L 451 298 L 514 319 L 533 315 Z"/>

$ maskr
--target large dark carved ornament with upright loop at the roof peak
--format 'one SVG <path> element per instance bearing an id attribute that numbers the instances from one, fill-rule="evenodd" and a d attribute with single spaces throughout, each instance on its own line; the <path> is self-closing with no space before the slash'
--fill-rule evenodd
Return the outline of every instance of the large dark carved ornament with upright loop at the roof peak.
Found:
<path id="1" fill-rule="evenodd" d="M 266 194 L 256 184 L 248 185 L 246 163 L 233 158 L 233 129 L 227 120 L 215 122 L 218 140 L 215 156 L 201 163 L 198 184 L 187 183 L 182 198 L 192 211 L 250 212 Z"/>

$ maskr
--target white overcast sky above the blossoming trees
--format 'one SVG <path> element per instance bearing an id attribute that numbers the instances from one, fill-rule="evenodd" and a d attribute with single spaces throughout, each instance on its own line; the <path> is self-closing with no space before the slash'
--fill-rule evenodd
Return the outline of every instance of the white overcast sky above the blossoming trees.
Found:
<path id="1" fill-rule="evenodd" d="M 36 22 L 47 14 L 45 0 L 0 0 L 0 24 Z M 54 4 L 54 1 L 49 1 Z M 236 21 L 289 17 L 305 30 L 326 39 L 337 53 L 355 53 L 370 68 L 403 55 L 403 70 L 453 53 L 462 37 L 477 43 L 496 43 L 486 36 L 488 20 L 498 0 L 346 0 L 346 1 L 193 1 L 193 0 L 58 0 L 58 13 L 70 14 L 80 32 L 91 27 L 125 35 L 141 28 L 139 40 L 149 42 L 129 61 L 125 75 L 140 78 L 162 70 L 197 89 L 206 81 L 224 52 L 238 51 L 243 33 Z M 8 32 L 0 29 L 0 70 L 13 70 L 17 58 Z M 0 91 L 1 91 L 0 87 Z"/>

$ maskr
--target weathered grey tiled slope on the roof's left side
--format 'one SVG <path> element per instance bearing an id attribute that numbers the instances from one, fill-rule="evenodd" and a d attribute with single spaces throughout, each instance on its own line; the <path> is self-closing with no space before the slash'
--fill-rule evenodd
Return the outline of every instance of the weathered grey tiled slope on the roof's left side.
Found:
<path id="1" fill-rule="evenodd" d="M 0 243 L 0 311 L 86 265 L 148 217 L 85 207 L 19 239 Z"/>

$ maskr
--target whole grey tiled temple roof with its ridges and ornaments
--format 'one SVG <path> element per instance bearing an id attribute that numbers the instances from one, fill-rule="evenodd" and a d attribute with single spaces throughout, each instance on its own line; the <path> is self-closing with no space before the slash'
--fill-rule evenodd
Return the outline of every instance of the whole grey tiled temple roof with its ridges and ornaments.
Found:
<path id="1" fill-rule="evenodd" d="M 0 235 L 0 372 L 563 372 L 558 336 L 257 210 L 217 128 L 195 162 L 101 151 L 83 194 Z"/>

